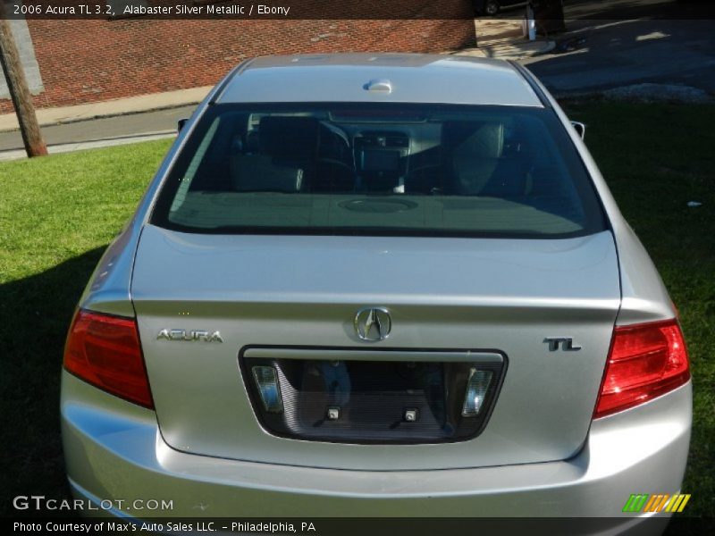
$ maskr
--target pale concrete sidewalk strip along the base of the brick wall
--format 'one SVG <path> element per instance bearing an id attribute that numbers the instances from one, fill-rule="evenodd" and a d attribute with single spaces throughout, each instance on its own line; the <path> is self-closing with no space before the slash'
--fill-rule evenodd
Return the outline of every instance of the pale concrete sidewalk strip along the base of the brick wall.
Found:
<path id="1" fill-rule="evenodd" d="M 88 105 L 38 109 L 38 121 L 40 126 L 46 127 L 67 122 L 87 121 L 98 117 L 111 117 L 127 113 L 141 113 L 163 108 L 196 105 L 203 100 L 211 88 L 212 86 L 179 89 L 177 91 L 130 96 Z M 0 115 L 0 132 L 18 130 L 19 128 L 17 117 L 14 113 Z"/>

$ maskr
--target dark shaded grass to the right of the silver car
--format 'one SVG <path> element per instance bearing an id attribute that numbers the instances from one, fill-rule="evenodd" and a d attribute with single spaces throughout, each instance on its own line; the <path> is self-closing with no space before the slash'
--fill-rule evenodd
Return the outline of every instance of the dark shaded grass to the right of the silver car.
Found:
<path id="1" fill-rule="evenodd" d="M 694 427 L 683 492 L 715 515 L 715 106 L 571 105 L 621 212 L 675 302 L 690 353 Z M 688 208 L 689 201 L 702 206 Z"/>

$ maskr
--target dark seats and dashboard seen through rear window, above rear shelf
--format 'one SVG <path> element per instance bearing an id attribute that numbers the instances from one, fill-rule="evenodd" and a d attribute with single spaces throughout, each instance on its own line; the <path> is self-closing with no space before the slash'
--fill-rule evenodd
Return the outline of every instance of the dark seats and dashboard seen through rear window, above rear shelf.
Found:
<path id="1" fill-rule="evenodd" d="M 563 184 L 546 180 L 552 165 L 534 157 L 517 121 L 241 115 L 220 122 L 192 190 L 523 197 L 553 196 Z"/>

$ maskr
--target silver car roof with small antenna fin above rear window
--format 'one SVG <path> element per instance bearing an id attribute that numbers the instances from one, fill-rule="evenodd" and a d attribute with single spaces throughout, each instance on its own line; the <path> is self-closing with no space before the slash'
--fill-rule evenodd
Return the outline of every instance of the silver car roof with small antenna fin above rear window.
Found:
<path id="1" fill-rule="evenodd" d="M 529 81 L 512 64 L 449 54 L 262 56 L 240 64 L 214 102 L 543 107 Z"/>

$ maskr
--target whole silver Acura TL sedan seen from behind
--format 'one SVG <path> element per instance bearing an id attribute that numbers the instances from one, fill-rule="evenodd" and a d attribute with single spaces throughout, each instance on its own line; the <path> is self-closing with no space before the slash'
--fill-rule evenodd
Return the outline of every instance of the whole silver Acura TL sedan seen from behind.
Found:
<path id="1" fill-rule="evenodd" d="M 616 527 L 685 506 L 677 312 L 582 134 L 516 63 L 241 63 L 80 299 L 75 495 Z"/>

